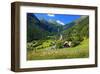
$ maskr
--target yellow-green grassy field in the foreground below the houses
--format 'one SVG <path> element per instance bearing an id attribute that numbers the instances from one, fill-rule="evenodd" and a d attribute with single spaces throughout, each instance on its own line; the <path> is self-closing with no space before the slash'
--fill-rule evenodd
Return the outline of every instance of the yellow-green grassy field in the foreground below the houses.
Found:
<path id="1" fill-rule="evenodd" d="M 44 60 L 44 59 L 71 59 L 71 58 L 88 58 L 89 57 L 89 39 L 85 39 L 76 47 L 62 49 L 39 49 L 27 52 L 27 60 Z"/>

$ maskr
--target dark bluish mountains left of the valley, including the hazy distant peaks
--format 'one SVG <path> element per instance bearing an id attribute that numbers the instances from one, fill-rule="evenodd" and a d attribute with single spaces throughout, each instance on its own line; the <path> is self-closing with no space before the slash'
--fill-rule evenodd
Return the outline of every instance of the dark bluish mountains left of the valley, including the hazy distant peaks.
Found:
<path id="1" fill-rule="evenodd" d="M 45 39 L 63 30 L 62 25 L 45 19 L 38 19 L 33 13 L 27 14 L 27 41 Z"/>

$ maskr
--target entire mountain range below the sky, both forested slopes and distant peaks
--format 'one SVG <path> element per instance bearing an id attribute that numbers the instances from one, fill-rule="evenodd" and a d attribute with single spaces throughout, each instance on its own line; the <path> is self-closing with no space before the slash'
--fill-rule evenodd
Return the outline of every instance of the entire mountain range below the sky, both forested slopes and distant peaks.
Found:
<path id="1" fill-rule="evenodd" d="M 56 20 L 38 19 L 33 13 L 27 14 L 27 42 L 43 40 L 48 36 L 65 41 L 82 41 L 89 37 L 89 17 L 81 16 L 68 24 L 61 25 Z"/>

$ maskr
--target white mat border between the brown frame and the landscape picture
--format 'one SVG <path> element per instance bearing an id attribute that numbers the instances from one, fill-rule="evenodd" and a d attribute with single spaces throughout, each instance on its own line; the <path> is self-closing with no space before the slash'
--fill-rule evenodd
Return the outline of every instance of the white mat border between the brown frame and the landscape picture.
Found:
<path id="1" fill-rule="evenodd" d="M 55 13 L 55 14 L 75 14 L 89 15 L 89 58 L 82 59 L 59 59 L 59 60 L 35 60 L 27 61 L 26 52 L 26 13 Z M 20 7 L 20 68 L 38 68 L 52 66 L 71 66 L 95 64 L 95 12 L 94 10 L 54 8 L 54 7 Z"/>

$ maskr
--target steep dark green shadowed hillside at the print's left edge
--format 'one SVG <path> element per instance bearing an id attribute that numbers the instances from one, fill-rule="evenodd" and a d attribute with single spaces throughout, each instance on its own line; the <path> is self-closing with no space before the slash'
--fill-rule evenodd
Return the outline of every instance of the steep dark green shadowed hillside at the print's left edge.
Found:
<path id="1" fill-rule="evenodd" d="M 49 31 L 42 28 L 42 23 L 33 15 L 27 15 L 27 42 L 45 38 Z"/>

